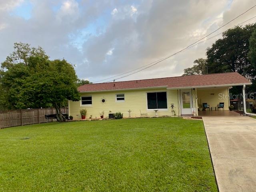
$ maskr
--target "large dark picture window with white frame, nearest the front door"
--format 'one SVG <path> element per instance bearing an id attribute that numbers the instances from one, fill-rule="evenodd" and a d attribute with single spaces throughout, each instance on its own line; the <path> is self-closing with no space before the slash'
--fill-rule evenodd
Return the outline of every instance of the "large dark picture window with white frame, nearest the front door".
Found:
<path id="1" fill-rule="evenodd" d="M 147 93 L 148 109 L 167 109 L 166 92 Z"/>

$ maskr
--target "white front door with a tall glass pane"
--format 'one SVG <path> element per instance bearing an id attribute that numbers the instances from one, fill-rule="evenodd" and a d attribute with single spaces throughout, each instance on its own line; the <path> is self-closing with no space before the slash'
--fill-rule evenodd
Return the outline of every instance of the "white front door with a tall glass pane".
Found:
<path id="1" fill-rule="evenodd" d="M 181 100 L 181 114 L 188 115 L 192 114 L 192 93 L 191 90 L 181 90 L 180 92 Z"/>

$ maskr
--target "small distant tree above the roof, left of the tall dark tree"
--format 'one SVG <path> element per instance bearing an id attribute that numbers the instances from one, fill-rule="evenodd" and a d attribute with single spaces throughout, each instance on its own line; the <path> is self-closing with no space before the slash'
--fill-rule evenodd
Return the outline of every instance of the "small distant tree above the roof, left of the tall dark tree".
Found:
<path id="1" fill-rule="evenodd" d="M 199 58 L 194 61 L 194 65 L 191 68 L 184 69 L 183 76 L 206 74 L 207 73 L 206 67 L 207 67 L 206 59 Z"/>

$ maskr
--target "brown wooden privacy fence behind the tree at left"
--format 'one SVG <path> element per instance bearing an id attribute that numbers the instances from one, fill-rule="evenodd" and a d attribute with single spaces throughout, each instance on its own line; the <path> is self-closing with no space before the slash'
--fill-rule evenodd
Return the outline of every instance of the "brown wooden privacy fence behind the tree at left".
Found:
<path id="1" fill-rule="evenodd" d="M 61 108 L 61 111 L 68 113 L 66 108 Z M 44 118 L 49 114 L 56 114 L 56 110 L 48 108 L 0 111 L 0 128 L 56 121 Z"/>

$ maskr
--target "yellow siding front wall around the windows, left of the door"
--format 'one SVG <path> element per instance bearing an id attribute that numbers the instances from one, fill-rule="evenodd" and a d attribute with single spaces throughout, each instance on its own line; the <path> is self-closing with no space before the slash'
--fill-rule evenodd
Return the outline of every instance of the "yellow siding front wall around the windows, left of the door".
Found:
<path id="1" fill-rule="evenodd" d="M 146 89 L 146 90 L 126 90 L 126 91 L 105 91 L 105 92 L 91 92 L 82 93 L 81 96 L 92 96 L 92 106 L 80 106 L 80 101 L 69 101 L 69 115 L 74 119 L 81 119 L 80 109 L 86 108 L 86 119 L 92 115 L 93 118 L 100 118 L 100 112 L 104 111 L 104 117 L 108 114 L 121 112 L 124 117 L 128 117 L 128 110 L 131 110 L 132 117 L 140 117 L 140 110 L 142 113 L 147 113 L 148 116 L 154 116 L 154 110 L 147 110 L 147 92 L 167 92 L 167 110 L 159 110 L 158 116 L 173 116 L 171 104 L 174 104 L 176 116 L 178 116 L 178 100 L 177 90 L 161 89 Z M 116 102 L 116 94 L 124 94 L 124 102 Z M 102 102 L 105 99 L 105 102 Z"/>

